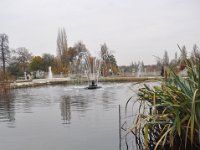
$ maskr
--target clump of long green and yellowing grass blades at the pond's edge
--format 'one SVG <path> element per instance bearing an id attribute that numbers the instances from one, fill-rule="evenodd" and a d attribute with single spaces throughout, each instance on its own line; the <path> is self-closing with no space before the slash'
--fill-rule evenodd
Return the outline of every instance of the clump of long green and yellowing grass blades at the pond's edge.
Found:
<path id="1" fill-rule="evenodd" d="M 141 149 L 200 149 L 200 57 L 183 61 L 187 77 L 168 68 L 159 86 L 139 89 L 139 115 L 130 131 Z"/>

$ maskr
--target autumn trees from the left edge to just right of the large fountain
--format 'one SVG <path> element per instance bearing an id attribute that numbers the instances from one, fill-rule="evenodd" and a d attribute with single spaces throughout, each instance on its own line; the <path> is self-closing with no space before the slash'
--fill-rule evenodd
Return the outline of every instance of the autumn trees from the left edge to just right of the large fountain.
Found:
<path id="1" fill-rule="evenodd" d="M 9 47 L 8 35 L 0 34 L 0 78 L 17 78 L 24 75 L 24 72 L 44 71 L 48 72 L 48 67 L 52 67 L 54 74 L 82 73 L 81 55 L 82 52 L 89 52 L 82 41 L 78 41 L 74 46 L 68 46 L 67 35 L 64 28 L 59 29 L 57 36 L 57 56 L 44 53 L 42 56 L 34 56 L 27 48 L 19 47 L 11 49 Z M 105 54 L 107 55 L 105 57 Z M 104 64 L 101 68 L 102 75 L 108 75 L 109 70 L 117 74 L 119 71 L 114 55 L 109 51 L 107 45 L 101 45 L 100 57 Z M 92 56 L 91 56 L 92 57 Z"/>

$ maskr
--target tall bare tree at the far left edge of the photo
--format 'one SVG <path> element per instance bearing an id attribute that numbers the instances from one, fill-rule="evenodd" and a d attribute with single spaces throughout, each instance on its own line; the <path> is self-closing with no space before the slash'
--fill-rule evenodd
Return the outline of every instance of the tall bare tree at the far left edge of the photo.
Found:
<path id="1" fill-rule="evenodd" d="M 6 72 L 6 63 L 10 58 L 9 41 L 6 34 L 0 34 L 0 61 L 3 64 L 3 73 Z"/>

